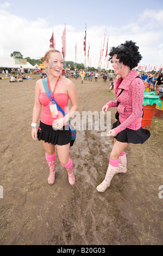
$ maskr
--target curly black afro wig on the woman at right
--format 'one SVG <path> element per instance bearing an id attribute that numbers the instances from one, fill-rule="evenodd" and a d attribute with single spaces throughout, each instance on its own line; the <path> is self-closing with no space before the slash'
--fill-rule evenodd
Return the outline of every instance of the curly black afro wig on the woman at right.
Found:
<path id="1" fill-rule="evenodd" d="M 129 66 L 130 69 L 134 69 L 142 59 L 138 50 L 139 47 L 135 45 L 135 42 L 126 41 L 124 44 L 111 48 L 109 60 L 112 59 L 114 54 L 117 54 L 117 59 L 120 59 L 120 63 L 123 62 L 123 64 Z"/>

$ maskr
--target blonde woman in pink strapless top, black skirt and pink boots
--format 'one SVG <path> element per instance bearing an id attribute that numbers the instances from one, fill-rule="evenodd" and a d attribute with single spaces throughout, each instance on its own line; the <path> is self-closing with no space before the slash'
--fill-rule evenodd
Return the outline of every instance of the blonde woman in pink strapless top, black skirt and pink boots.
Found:
<path id="1" fill-rule="evenodd" d="M 43 80 L 36 82 L 35 103 L 32 119 L 32 138 L 42 142 L 45 149 L 46 161 L 49 166 L 48 184 L 52 185 L 55 181 L 55 146 L 62 166 L 67 170 L 68 181 L 74 185 L 75 176 L 72 169 L 72 160 L 69 157 L 71 131 L 67 121 L 77 111 L 78 101 L 76 88 L 71 80 L 61 76 L 64 67 L 64 60 L 58 50 L 51 49 L 45 53 L 41 59 L 47 69 L 48 89 L 52 91 L 55 101 L 65 112 L 65 116 L 57 111 L 55 115 L 51 106 L 54 105 L 53 98 L 50 100 L 45 92 Z M 68 100 L 71 101 L 70 111 L 67 113 Z M 42 112 L 41 112 L 41 107 Z M 54 106 L 53 106 L 54 107 Z M 55 106 L 56 107 L 56 106 Z M 37 121 L 41 113 L 39 130 L 37 131 Z"/>

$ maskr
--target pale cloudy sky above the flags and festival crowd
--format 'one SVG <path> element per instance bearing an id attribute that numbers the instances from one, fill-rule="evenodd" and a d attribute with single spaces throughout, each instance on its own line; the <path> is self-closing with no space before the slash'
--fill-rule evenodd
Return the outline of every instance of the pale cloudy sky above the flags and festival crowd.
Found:
<path id="1" fill-rule="evenodd" d="M 61 36 L 66 24 L 66 58 L 84 63 L 86 24 L 87 65 L 97 68 L 101 45 L 105 45 L 102 67 L 109 36 L 109 48 L 133 40 L 140 47 L 140 64 L 163 65 L 163 1 L 1 1 L 0 56 L 10 57 L 19 51 L 23 57 L 38 59 L 49 49 L 54 31 L 56 48 L 61 51 Z M 109 49 L 108 49 L 109 51 Z M 111 66 L 111 64 L 110 64 Z M 109 66 L 109 67 L 110 67 Z"/>

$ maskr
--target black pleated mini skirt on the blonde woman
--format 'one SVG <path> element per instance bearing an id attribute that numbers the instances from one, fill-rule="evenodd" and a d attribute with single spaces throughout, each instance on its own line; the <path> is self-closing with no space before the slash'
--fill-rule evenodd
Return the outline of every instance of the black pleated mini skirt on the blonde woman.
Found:
<path id="1" fill-rule="evenodd" d="M 37 138 L 39 141 L 45 141 L 54 145 L 66 145 L 71 142 L 71 131 L 68 125 L 62 127 L 61 130 L 54 130 L 51 125 L 43 124 L 40 121 Z"/>

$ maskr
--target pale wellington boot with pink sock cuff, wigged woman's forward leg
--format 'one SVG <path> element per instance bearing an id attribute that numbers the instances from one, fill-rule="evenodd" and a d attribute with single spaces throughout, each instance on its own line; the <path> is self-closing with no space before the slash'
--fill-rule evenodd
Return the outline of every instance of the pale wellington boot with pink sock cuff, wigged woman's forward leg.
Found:
<path id="1" fill-rule="evenodd" d="M 104 192 L 106 190 L 106 188 L 108 188 L 110 186 L 110 182 L 111 182 L 113 176 L 118 171 L 118 163 L 119 163 L 119 159 L 113 160 L 110 158 L 108 170 L 105 175 L 105 179 L 103 180 L 103 182 L 101 184 L 99 184 L 96 187 L 98 192 Z"/>

